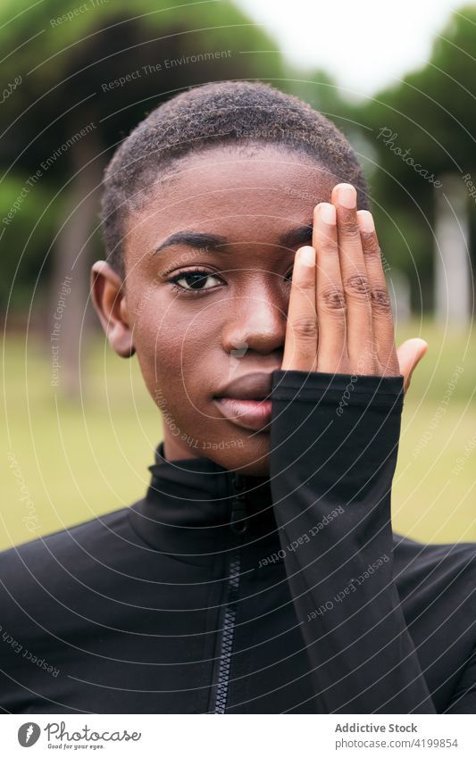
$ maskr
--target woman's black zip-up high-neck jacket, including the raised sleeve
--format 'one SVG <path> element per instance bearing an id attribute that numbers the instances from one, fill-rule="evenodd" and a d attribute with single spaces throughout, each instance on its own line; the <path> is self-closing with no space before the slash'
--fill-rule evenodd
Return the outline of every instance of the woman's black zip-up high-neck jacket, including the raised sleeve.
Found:
<path id="1" fill-rule="evenodd" d="M 269 478 L 169 462 L 0 554 L 4 712 L 474 713 L 476 549 L 393 535 L 403 378 L 274 371 Z"/>

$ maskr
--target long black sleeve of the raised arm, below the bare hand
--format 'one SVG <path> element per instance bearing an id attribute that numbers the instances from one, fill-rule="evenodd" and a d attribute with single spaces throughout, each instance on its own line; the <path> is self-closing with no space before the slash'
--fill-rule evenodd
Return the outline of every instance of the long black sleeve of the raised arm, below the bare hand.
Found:
<path id="1" fill-rule="evenodd" d="M 272 502 L 318 711 L 435 713 L 393 579 L 403 377 L 272 379 Z"/>

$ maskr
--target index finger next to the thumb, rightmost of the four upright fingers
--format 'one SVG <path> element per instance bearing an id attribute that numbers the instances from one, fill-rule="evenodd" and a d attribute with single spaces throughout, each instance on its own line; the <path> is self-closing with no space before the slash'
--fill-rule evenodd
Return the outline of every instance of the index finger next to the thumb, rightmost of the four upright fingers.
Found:
<path id="1" fill-rule="evenodd" d="M 372 303 L 374 351 L 380 366 L 395 376 L 399 373 L 395 330 L 387 281 L 381 262 L 380 245 L 372 213 L 370 211 L 357 211 L 357 223 L 360 229 L 363 260 L 367 270 Z"/>

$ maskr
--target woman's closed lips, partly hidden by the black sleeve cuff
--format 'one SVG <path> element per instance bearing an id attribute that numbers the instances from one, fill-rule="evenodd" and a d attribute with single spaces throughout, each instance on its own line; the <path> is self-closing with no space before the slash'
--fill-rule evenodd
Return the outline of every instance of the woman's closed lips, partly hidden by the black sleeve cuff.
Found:
<path id="1" fill-rule="evenodd" d="M 259 431 L 271 423 L 271 385 L 271 373 L 256 371 L 221 387 L 213 402 L 232 423 Z"/>

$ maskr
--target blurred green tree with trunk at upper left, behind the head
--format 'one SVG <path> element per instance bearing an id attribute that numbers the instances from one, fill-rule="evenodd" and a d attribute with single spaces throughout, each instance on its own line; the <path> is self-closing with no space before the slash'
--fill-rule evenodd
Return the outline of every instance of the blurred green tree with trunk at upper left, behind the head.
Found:
<path id="1" fill-rule="evenodd" d="M 61 363 L 62 388 L 74 395 L 98 190 L 114 147 L 182 88 L 217 79 L 280 81 L 280 54 L 246 54 L 276 45 L 228 0 L 4 0 L 0 28 L 7 51 L 1 73 L 2 242 L 20 304 L 32 267 L 42 281 L 53 279 L 53 295 L 33 309 L 36 318 L 43 313 L 48 334 L 58 288 L 72 277 Z M 53 229 L 59 231 L 52 238 Z M 0 296 L 5 304 L 7 289 Z"/>

